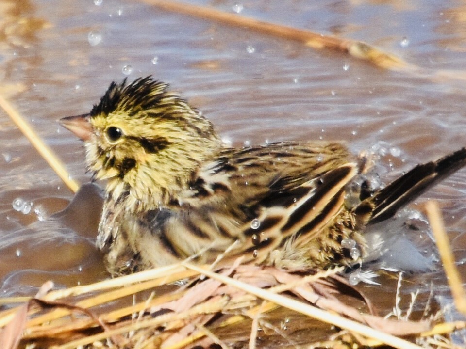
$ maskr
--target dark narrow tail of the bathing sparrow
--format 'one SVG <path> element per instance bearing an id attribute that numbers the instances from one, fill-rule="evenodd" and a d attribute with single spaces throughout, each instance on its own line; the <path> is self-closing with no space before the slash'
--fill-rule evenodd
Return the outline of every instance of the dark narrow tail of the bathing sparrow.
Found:
<path id="1" fill-rule="evenodd" d="M 463 148 L 436 161 L 417 165 L 411 171 L 394 180 L 374 196 L 364 200 L 358 208 L 363 212 L 372 208 L 367 224 L 381 222 L 392 217 L 399 208 L 416 199 L 426 189 L 458 171 L 466 165 L 466 149 Z"/>

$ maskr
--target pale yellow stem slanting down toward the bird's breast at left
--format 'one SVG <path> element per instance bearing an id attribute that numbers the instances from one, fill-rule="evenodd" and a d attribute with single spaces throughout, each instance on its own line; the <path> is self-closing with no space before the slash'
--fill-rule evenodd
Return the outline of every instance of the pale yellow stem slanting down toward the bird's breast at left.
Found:
<path id="1" fill-rule="evenodd" d="M 2 95 L 0 95 L 0 107 L 10 117 L 10 119 L 16 124 L 19 130 L 24 136 L 31 142 L 35 150 L 44 158 L 50 165 L 53 171 L 61 178 L 61 180 L 67 185 L 72 191 L 76 192 L 79 189 L 80 184 L 69 177 L 69 173 L 63 166 L 62 162 L 55 156 L 49 146 L 45 144 L 42 139 L 33 130 L 31 125 L 19 114 L 19 112 L 8 102 Z"/>

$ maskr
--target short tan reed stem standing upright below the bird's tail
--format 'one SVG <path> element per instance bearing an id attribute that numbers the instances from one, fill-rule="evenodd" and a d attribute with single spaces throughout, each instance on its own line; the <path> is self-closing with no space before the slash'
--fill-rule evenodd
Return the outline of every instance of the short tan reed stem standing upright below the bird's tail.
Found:
<path id="1" fill-rule="evenodd" d="M 466 293 L 462 285 L 461 276 L 455 265 L 455 259 L 451 252 L 449 239 L 445 232 L 438 203 L 436 201 L 427 202 L 426 212 L 432 227 L 440 258 L 442 259 L 443 269 L 447 275 L 448 285 L 450 286 L 456 309 L 463 313 L 463 315 L 466 315 Z"/>

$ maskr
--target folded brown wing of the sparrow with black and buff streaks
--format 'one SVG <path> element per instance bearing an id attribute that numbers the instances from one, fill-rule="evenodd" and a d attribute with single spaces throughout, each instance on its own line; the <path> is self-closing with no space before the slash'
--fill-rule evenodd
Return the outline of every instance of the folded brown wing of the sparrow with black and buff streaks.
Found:
<path id="1" fill-rule="evenodd" d="M 236 241 L 230 256 L 261 262 L 286 238 L 312 239 L 333 222 L 345 186 L 358 173 L 352 159 L 337 143 L 277 143 L 225 152 L 202 168 L 192 193 L 180 200 L 184 209 L 170 231 L 183 230 L 186 255 L 201 246 L 218 253 Z"/>

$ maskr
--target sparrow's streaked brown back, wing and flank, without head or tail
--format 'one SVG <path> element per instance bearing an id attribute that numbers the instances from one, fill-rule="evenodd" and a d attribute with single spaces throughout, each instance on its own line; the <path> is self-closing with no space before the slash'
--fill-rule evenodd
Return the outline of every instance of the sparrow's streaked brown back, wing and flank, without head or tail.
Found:
<path id="1" fill-rule="evenodd" d="M 132 246 L 143 266 L 193 256 L 227 263 L 241 255 L 285 268 L 325 267 L 350 258 L 343 239 L 363 244 L 344 206 L 358 172 L 358 159 L 339 143 L 226 148 L 170 205 L 122 220 L 119 238 L 127 236 L 122 246 Z"/>

